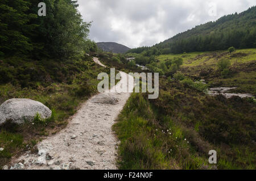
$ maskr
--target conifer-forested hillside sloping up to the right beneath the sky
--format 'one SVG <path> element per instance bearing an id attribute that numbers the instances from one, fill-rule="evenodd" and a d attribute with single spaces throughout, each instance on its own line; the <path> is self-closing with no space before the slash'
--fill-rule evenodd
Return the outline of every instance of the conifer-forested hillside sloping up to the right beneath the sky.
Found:
<path id="1" fill-rule="evenodd" d="M 174 37 L 156 44 L 151 48 L 131 49 L 131 53 L 168 54 L 225 50 L 229 47 L 256 47 L 256 6 L 240 14 L 225 15 L 215 22 L 208 22 L 178 33 Z"/>

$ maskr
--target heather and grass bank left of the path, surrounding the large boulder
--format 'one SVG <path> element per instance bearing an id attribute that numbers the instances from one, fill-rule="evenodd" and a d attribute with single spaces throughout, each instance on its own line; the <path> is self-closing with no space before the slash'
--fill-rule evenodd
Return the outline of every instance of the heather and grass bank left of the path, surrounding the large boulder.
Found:
<path id="1" fill-rule="evenodd" d="M 1 74 L 12 70 L 12 74 Z M 88 56 L 83 60 L 65 62 L 16 60 L 16 57 L 4 59 L 0 64 L 0 78 L 7 76 L 9 81 L 0 83 L 0 104 L 11 98 L 37 100 L 52 110 L 52 117 L 43 120 L 35 115 L 34 125 L 27 122 L 19 126 L 2 125 L 0 148 L 5 149 L 0 153 L 0 168 L 13 155 L 26 150 L 23 145 L 32 147 L 42 137 L 65 127 L 68 117 L 76 112 L 79 104 L 97 93 L 100 82 L 97 75 L 101 72 L 110 73 L 110 70 L 96 65 Z M 26 81 L 19 76 L 21 73 L 26 74 Z"/>

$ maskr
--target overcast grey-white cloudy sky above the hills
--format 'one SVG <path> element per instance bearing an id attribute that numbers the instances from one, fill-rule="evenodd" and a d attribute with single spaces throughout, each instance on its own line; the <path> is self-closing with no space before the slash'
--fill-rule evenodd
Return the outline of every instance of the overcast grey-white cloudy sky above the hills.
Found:
<path id="1" fill-rule="evenodd" d="M 242 12 L 256 0 L 79 0 L 90 39 L 151 46 L 196 25 Z"/>

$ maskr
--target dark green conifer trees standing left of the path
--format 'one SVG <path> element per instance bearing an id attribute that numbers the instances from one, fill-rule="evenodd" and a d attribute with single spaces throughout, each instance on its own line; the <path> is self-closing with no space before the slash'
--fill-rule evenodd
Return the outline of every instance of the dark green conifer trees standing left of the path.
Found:
<path id="1" fill-rule="evenodd" d="M 38 16 L 39 2 L 46 3 L 46 16 Z M 96 50 L 78 6 L 72 0 L 1 0 L 0 56 L 67 59 Z"/>

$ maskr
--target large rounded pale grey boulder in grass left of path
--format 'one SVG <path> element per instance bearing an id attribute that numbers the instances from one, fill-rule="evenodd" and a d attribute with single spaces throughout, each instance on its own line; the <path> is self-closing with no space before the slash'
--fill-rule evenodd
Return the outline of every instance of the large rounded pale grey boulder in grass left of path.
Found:
<path id="1" fill-rule="evenodd" d="M 33 121 L 36 113 L 42 119 L 51 117 L 52 111 L 44 104 L 31 99 L 9 99 L 0 106 L 0 125 L 10 120 L 11 123 L 23 124 L 24 120 Z"/>

